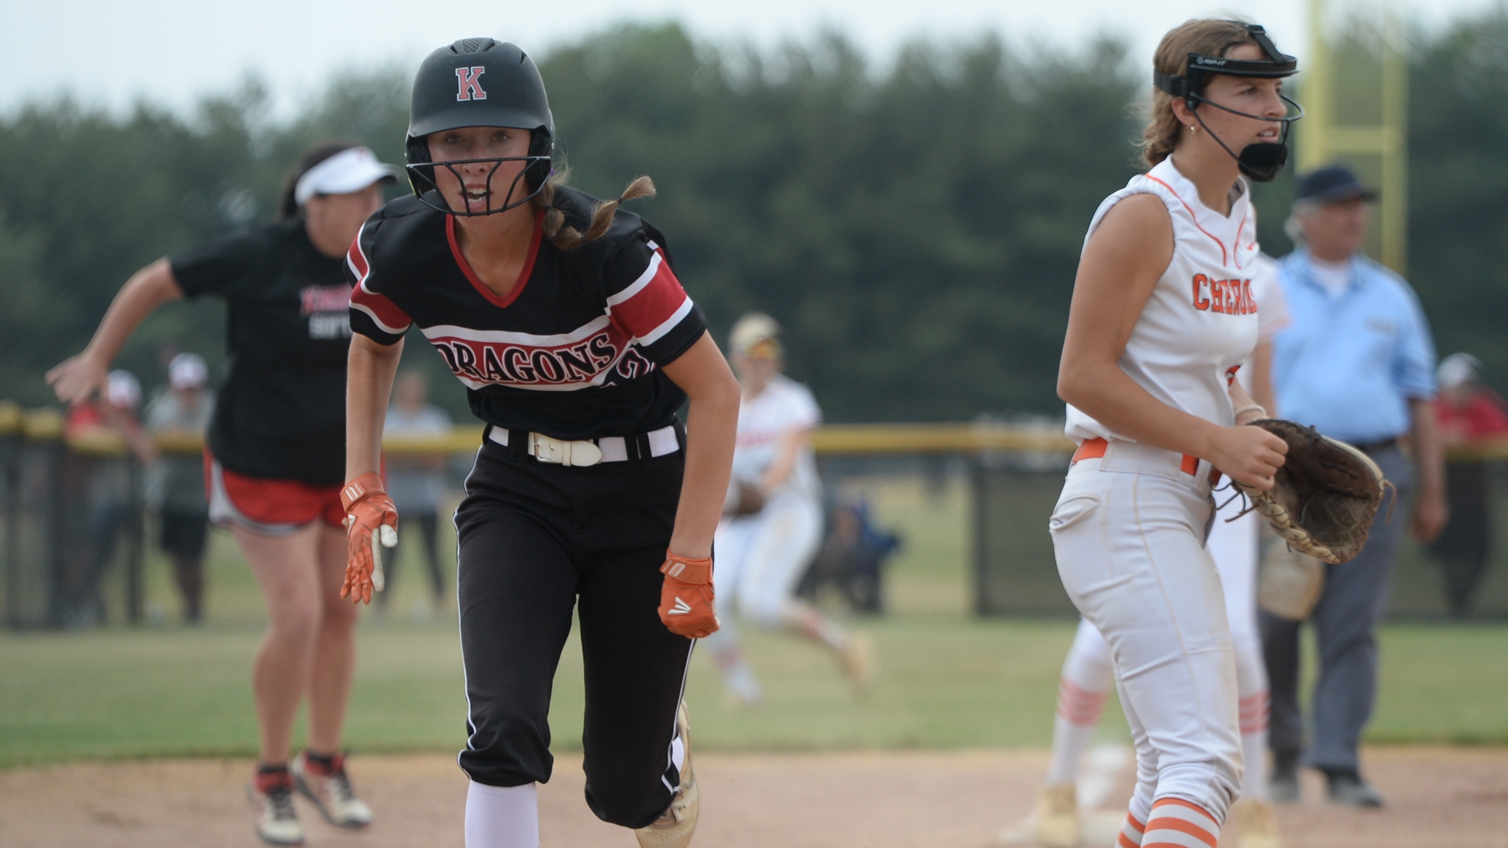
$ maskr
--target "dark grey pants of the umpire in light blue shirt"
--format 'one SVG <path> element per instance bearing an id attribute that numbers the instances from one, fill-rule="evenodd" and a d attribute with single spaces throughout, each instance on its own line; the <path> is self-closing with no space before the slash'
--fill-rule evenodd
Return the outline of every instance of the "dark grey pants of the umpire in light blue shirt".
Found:
<path id="1" fill-rule="evenodd" d="M 1357 768 L 1356 748 L 1377 699 L 1377 623 L 1387 610 L 1393 554 L 1408 524 L 1405 507 L 1413 469 L 1396 445 L 1371 454 L 1383 475 L 1398 486 L 1384 496 L 1372 521 L 1366 548 L 1348 563 L 1326 566 L 1324 593 L 1310 613 L 1320 643 L 1320 681 L 1313 693 L 1313 736 L 1304 751 L 1298 708 L 1298 626 L 1301 622 L 1261 613 L 1262 652 L 1273 694 L 1268 745 L 1277 762 L 1347 771 Z M 1396 507 L 1393 501 L 1396 499 Z M 1384 522 L 1387 510 L 1393 518 Z"/>

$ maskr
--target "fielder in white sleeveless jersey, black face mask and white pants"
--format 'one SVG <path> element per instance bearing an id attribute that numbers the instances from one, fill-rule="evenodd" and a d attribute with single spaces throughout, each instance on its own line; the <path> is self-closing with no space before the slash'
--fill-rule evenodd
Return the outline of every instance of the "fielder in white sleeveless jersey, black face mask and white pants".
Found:
<path id="1" fill-rule="evenodd" d="M 1220 469 L 1271 487 L 1285 444 L 1234 376 L 1256 347 L 1250 186 L 1286 161 L 1262 27 L 1196 20 L 1154 60 L 1146 175 L 1105 199 L 1074 282 L 1059 395 L 1078 442 L 1050 530 L 1063 587 L 1110 646 L 1137 750 L 1119 843 L 1208 845 L 1241 783 L 1231 628 L 1205 549 Z"/>

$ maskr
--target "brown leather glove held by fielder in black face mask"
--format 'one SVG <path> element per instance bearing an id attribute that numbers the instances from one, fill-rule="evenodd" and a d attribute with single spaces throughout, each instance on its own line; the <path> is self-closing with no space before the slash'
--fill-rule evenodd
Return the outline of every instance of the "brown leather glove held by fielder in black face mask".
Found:
<path id="1" fill-rule="evenodd" d="M 1288 442 L 1288 457 L 1270 490 L 1237 483 L 1277 536 L 1289 548 L 1330 564 L 1360 554 L 1383 490 L 1392 486 L 1372 457 L 1280 418 L 1261 418 L 1249 427 Z"/>

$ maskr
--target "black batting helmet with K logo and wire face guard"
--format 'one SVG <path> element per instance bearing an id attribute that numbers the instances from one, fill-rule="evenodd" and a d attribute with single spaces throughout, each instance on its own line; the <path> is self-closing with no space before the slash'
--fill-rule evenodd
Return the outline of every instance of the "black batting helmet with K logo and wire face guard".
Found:
<path id="1" fill-rule="evenodd" d="M 508 158 L 486 158 L 442 163 L 452 166 L 474 161 L 492 163 L 487 175 L 487 208 L 474 213 L 455 211 L 434 184 L 434 163 L 430 160 L 430 133 L 460 127 L 514 127 L 529 130 L 529 154 Z M 514 44 L 492 38 L 463 38 L 430 53 L 413 78 L 413 100 L 409 106 L 409 139 L 404 145 L 409 186 L 419 201 L 446 214 L 493 214 L 526 204 L 540 193 L 550 175 L 555 149 L 555 118 L 544 97 L 544 80 L 534 60 Z M 508 198 L 519 178 L 529 189 L 528 196 L 504 207 L 492 208 L 492 174 L 504 161 L 525 161 L 523 171 L 502 192 Z M 460 180 L 460 174 L 455 174 Z"/>

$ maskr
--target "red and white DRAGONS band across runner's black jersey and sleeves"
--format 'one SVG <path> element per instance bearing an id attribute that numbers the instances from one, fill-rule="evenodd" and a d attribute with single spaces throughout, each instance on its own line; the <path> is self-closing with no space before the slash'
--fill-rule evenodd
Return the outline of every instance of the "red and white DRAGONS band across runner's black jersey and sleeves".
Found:
<path id="1" fill-rule="evenodd" d="M 650 247 L 654 252 L 638 279 L 609 296 L 602 315 L 570 332 L 535 335 L 455 324 L 421 324 L 419 330 L 455 377 L 474 389 L 495 385 L 576 391 L 633 380 L 654 370 L 654 362 L 638 347 L 657 341 L 692 309 L 664 252 L 653 243 Z M 350 306 L 383 332 L 406 332 L 412 324 L 409 315 L 366 285 L 371 269 L 359 243 L 348 261 L 357 278 Z"/>

